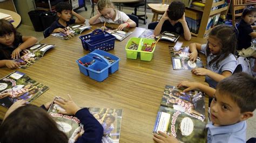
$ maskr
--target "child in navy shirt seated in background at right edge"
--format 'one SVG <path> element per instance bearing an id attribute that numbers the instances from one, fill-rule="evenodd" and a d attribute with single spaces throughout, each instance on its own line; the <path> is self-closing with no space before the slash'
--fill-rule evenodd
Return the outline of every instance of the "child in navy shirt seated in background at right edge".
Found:
<path id="1" fill-rule="evenodd" d="M 256 8 L 249 6 L 242 12 L 242 19 L 238 23 L 238 54 L 240 56 L 256 57 L 256 47 L 252 44 L 252 39 L 256 38 L 254 22 L 256 20 Z"/>

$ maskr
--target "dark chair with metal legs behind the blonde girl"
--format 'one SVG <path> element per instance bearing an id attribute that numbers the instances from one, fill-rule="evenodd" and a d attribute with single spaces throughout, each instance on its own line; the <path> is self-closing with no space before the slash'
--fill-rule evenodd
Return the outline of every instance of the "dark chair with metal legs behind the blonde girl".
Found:
<path id="1" fill-rule="evenodd" d="M 143 20 L 144 24 L 146 24 L 146 19 L 147 19 L 147 15 L 146 15 L 146 5 L 147 1 L 137 1 L 137 2 L 131 2 L 131 3 L 122 3 L 122 6 L 126 6 L 126 7 L 130 7 L 130 8 L 134 8 L 134 13 L 132 13 L 132 15 L 137 16 L 140 20 Z M 139 8 L 139 6 L 145 6 L 144 7 L 144 15 L 137 15 L 137 8 Z M 144 18 L 143 18 L 144 17 Z"/>

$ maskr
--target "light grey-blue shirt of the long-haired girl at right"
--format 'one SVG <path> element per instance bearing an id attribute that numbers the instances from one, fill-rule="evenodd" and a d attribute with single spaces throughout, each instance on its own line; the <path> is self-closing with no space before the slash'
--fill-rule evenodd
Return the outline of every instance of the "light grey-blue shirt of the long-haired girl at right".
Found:
<path id="1" fill-rule="evenodd" d="M 206 44 L 201 46 L 201 51 L 205 53 L 206 55 Z M 210 61 L 215 58 L 215 55 L 210 53 L 210 55 L 207 56 L 206 59 L 206 68 L 213 71 L 217 74 L 222 74 L 223 71 L 230 71 L 233 73 L 235 68 L 237 67 L 237 59 L 233 54 L 229 54 L 224 60 L 220 61 L 218 65 L 216 63 L 212 63 L 211 66 L 209 66 Z M 205 76 L 205 81 L 210 85 L 212 88 L 216 88 L 218 82 L 214 81 L 211 77 Z"/>

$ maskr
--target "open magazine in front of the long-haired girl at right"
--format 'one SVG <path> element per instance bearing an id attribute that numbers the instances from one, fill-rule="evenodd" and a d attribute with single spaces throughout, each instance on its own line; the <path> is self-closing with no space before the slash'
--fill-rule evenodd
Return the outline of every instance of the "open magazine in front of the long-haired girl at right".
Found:
<path id="1" fill-rule="evenodd" d="M 180 45 L 180 46 L 177 46 Z M 173 69 L 178 70 L 190 70 L 193 68 L 203 68 L 203 62 L 200 60 L 200 57 L 197 57 L 195 62 L 191 61 L 188 58 L 189 47 L 181 47 L 182 43 L 177 42 L 176 46 L 169 46 L 169 51 L 172 56 L 172 67 Z"/>

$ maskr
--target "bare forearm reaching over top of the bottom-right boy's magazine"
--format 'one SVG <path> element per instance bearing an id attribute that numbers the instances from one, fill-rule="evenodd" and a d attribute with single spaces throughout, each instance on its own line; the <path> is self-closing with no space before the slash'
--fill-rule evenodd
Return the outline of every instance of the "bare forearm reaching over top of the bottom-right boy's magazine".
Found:
<path id="1" fill-rule="evenodd" d="M 189 81 L 181 81 L 177 87 L 178 88 L 186 87 L 186 89 L 184 89 L 183 92 L 187 92 L 187 91 L 194 90 L 194 89 L 199 89 L 199 90 L 205 92 L 205 94 L 210 97 L 213 97 L 213 95 L 216 91 L 214 88 L 211 88 L 205 84 L 201 84 L 198 82 L 189 82 Z"/>

